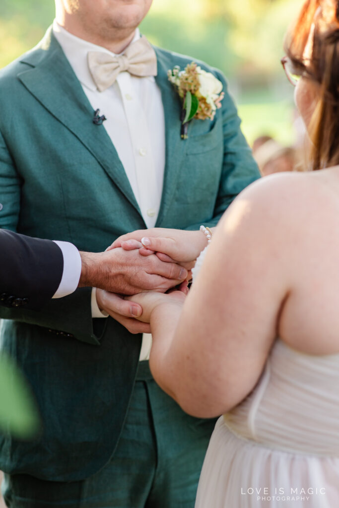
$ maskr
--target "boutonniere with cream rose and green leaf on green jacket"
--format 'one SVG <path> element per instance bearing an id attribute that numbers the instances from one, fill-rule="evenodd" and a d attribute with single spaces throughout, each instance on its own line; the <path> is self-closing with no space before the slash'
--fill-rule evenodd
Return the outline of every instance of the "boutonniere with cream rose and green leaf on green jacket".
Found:
<path id="1" fill-rule="evenodd" d="M 221 108 L 225 96 L 223 83 L 195 62 L 189 63 L 184 71 L 175 66 L 167 75 L 182 99 L 180 134 L 182 139 L 187 139 L 188 122 L 192 118 L 213 120 L 215 111 Z"/>

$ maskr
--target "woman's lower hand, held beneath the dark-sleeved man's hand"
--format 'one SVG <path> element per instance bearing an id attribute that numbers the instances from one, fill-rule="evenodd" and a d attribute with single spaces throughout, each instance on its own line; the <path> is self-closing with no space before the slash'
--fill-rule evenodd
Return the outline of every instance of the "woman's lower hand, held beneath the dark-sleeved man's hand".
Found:
<path id="1" fill-rule="evenodd" d="M 125 300 L 130 300 L 131 302 L 141 305 L 142 314 L 136 317 L 136 319 L 143 323 L 150 323 L 151 313 L 158 305 L 175 305 L 178 307 L 179 312 L 187 293 L 187 284 L 183 282 L 179 290 L 171 290 L 167 294 L 154 292 L 139 293 L 138 295 L 125 297 Z"/>

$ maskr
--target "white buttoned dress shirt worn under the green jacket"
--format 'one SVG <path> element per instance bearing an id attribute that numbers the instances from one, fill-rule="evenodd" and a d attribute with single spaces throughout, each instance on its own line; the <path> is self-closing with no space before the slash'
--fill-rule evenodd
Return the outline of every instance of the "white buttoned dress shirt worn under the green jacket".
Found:
<path id="1" fill-rule="evenodd" d="M 114 53 L 70 34 L 56 20 L 53 22 L 53 34 L 93 110 L 99 108 L 99 114 L 106 116 L 103 125 L 125 169 L 145 224 L 147 228 L 154 227 L 165 169 L 165 114 L 155 78 L 140 78 L 121 72 L 112 86 L 100 92 L 89 72 L 87 53 Z M 139 37 L 139 29 L 136 29 L 132 43 Z M 98 308 L 94 293 L 92 315 L 105 317 Z M 150 337 L 144 335 L 140 359 L 148 358 L 150 343 Z"/>

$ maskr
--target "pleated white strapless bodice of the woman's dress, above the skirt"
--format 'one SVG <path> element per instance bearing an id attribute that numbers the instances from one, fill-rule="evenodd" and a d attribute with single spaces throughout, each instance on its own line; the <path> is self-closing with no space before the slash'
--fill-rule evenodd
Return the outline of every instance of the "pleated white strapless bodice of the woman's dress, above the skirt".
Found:
<path id="1" fill-rule="evenodd" d="M 267 447 L 339 457 L 339 354 L 307 355 L 277 339 L 256 388 L 224 420 Z"/>

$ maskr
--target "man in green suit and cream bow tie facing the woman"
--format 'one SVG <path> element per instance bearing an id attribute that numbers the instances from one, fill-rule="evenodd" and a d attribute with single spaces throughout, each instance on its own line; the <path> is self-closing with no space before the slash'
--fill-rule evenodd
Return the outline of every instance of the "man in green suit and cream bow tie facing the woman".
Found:
<path id="1" fill-rule="evenodd" d="M 214 226 L 259 177 L 225 79 L 203 62 L 225 98 L 181 139 L 167 72 L 192 58 L 140 38 L 151 1 L 56 0 L 41 43 L 0 72 L 0 227 L 101 251 L 134 230 Z M 141 310 L 119 296 L 165 291 L 186 272 L 171 281 L 152 257 L 114 255 L 116 294 L 99 306 L 82 288 L 39 312 L 0 311 L 2 350 L 43 422 L 33 441 L 0 436 L 8 506 L 194 506 L 214 422 L 155 384 L 140 356 L 149 330 L 133 320 Z"/>

